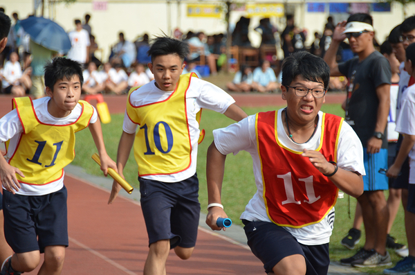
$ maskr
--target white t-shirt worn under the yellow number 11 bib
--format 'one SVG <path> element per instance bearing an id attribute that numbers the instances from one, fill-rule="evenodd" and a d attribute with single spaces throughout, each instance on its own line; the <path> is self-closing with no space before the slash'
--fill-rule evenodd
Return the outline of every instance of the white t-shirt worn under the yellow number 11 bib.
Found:
<path id="1" fill-rule="evenodd" d="M 74 123 L 80 117 L 82 113 L 82 106 L 80 104 L 77 104 L 72 110 L 71 114 L 64 118 L 55 118 L 51 116 L 48 112 L 49 99 L 50 98 L 46 96 L 44 98 L 33 100 L 33 107 L 35 107 L 36 116 L 42 123 L 50 125 L 67 125 Z M 93 107 L 93 116 L 90 123 L 95 123 L 97 118 L 97 112 Z M 21 126 L 21 122 L 19 120 L 19 116 L 17 115 L 16 109 L 13 109 L 11 112 L 6 114 L 6 116 L 3 116 L 0 119 L 0 143 L 10 139 L 7 154 L 4 156 L 7 161 L 15 153 L 22 132 L 23 127 Z M 20 186 L 21 188 L 16 192 L 16 194 L 31 196 L 46 195 L 62 189 L 64 186 L 64 177 L 61 177 L 57 181 L 53 181 L 50 184 L 20 184 Z"/>

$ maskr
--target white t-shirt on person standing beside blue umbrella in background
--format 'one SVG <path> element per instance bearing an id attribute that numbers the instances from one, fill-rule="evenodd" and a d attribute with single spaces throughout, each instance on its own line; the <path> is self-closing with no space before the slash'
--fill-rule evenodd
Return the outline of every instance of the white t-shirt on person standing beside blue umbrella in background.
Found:
<path id="1" fill-rule="evenodd" d="M 73 30 L 68 33 L 69 39 L 71 39 L 72 48 L 68 51 L 68 58 L 75 60 L 82 64 L 86 63 L 86 47 L 91 45 L 89 40 L 89 33 L 87 30 Z"/>

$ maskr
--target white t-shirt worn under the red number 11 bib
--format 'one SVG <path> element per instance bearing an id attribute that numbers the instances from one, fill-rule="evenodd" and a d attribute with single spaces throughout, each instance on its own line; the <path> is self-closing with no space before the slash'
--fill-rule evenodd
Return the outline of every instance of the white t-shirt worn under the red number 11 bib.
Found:
<path id="1" fill-rule="evenodd" d="M 320 145 L 322 112 L 318 113 L 319 121 L 317 131 L 314 136 L 306 143 L 298 144 L 293 142 L 286 134 L 282 123 L 283 109 L 278 111 L 277 132 L 279 142 L 287 148 L 301 152 L 304 149 L 316 150 Z M 257 192 L 250 199 L 241 219 L 250 221 L 271 222 L 266 212 L 264 203 L 264 185 L 261 175 L 261 160 L 259 159 L 257 149 L 257 136 L 255 130 L 255 115 L 244 118 L 239 123 L 234 123 L 226 128 L 213 131 L 214 144 L 221 154 L 237 154 L 241 150 L 249 152 L 253 161 L 255 184 Z M 343 121 L 338 139 L 338 167 L 344 170 L 356 171 L 365 175 L 365 166 L 363 164 L 363 148 L 360 139 L 351 126 Z M 298 242 L 303 245 L 322 245 L 328 243 L 333 230 L 334 207 L 324 219 L 317 223 L 302 228 L 284 227 L 290 232 Z"/>

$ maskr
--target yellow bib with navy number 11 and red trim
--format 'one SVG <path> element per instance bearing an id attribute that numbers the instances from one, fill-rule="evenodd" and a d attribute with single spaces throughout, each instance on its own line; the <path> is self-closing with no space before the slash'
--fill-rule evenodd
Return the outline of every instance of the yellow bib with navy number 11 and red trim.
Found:
<path id="1" fill-rule="evenodd" d="M 80 100 L 82 114 L 74 123 L 67 125 L 49 125 L 39 121 L 30 98 L 13 99 L 13 107 L 23 125 L 24 132 L 15 153 L 9 160 L 24 173 L 16 174 L 25 184 L 48 184 L 63 176 L 64 167 L 75 157 L 75 132 L 89 125 L 93 108 Z"/>

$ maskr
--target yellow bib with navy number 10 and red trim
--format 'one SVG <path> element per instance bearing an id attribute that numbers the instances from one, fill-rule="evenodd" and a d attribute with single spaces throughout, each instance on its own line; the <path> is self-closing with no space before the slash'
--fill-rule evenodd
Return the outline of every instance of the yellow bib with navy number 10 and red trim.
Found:
<path id="1" fill-rule="evenodd" d="M 191 77 L 190 73 L 182 75 L 176 90 L 166 100 L 136 107 L 128 99 L 127 114 L 140 127 L 134 141 L 140 176 L 169 175 L 190 166 L 192 145 L 186 92 Z M 134 90 L 130 90 L 129 97 Z"/>

